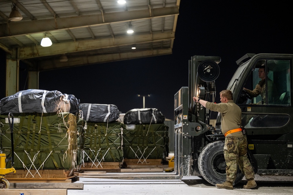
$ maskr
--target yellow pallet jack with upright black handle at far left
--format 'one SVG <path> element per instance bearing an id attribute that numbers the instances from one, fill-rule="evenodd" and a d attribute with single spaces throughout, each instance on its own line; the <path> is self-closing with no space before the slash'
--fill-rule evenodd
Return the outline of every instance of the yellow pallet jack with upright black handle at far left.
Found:
<path id="1" fill-rule="evenodd" d="M 10 121 L 10 115 L 11 115 L 11 121 Z M 6 158 L 5 153 L 0 153 L 0 189 L 1 188 L 9 188 L 9 182 L 5 179 L 5 174 L 14 172 L 16 173 L 16 170 L 13 168 L 13 157 L 14 157 L 14 145 L 13 145 L 13 114 L 10 112 L 8 114 L 8 122 L 10 126 L 11 131 L 11 157 Z M 6 163 L 11 160 L 11 168 L 6 169 Z"/>

